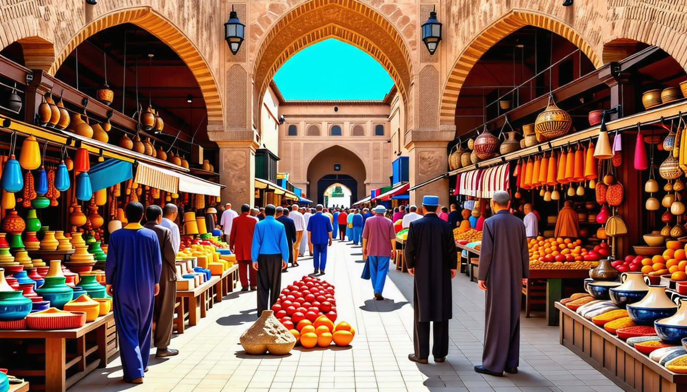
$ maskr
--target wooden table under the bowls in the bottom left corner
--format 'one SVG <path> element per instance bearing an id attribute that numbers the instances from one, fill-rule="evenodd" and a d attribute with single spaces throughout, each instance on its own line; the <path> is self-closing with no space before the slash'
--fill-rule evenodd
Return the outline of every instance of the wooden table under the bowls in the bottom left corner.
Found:
<path id="1" fill-rule="evenodd" d="M 106 367 L 117 351 L 112 312 L 72 330 L 0 331 L 0 367 L 12 376 L 41 380 L 44 384 L 32 381 L 32 388 L 48 392 L 64 392 L 93 369 Z"/>

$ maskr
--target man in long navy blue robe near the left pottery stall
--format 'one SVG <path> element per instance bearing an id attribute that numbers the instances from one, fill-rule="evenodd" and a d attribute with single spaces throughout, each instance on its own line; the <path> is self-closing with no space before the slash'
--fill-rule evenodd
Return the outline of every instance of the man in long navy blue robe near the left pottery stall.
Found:
<path id="1" fill-rule="evenodd" d="M 124 381 L 142 384 L 152 340 L 153 303 L 160 290 L 162 259 L 155 231 L 139 222 L 143 205 L 126 205 L 124 229 L 110 234 L 105 277 L 120 341 Z"/>

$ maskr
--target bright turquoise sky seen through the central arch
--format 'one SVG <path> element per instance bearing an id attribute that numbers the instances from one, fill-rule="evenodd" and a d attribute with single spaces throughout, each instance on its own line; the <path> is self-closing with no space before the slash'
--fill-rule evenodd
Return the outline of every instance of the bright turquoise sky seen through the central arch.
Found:
<path id="1" fill-rule="evenodd" d="M 369 54 L 334 38 L 291 56 L 274 82 L 286 100 L 381 100 L 394 85 Z"/>

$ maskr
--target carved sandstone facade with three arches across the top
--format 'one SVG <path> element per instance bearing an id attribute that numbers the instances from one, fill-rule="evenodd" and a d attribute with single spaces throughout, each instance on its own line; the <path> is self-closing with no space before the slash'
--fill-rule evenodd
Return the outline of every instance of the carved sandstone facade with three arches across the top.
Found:
<path id="1" fill-rule="evenodd" d="M 236 56 L 223 36 L 232 5 L 246 24 L 246 41 Z M 420 25 L 435 6 L 444 35 L 436 54 L 428 56 Z M 393 132 L 394 143 L 403 146 L 392 143 L 392 152 L 411 159 L 429 157 L 413 152 L 422 145 L 436 150 L 433 160 L 445 160 L 445 142 L 453 137 L 445 127 L 455 123 L 467 74 L 489 47 L 519 27 L 564 36 L 596 67 L 622 58 L 637 41 L 657 45 L 687 66 L 687 8 L 671 0 L 588 0 L 571 7 L 560 0 L 0 0 L 0 49 L 19 42 L 28 67 L 54 73 L 76 45 L 120 23 L 139 25 L 177 51 L 201 87 L 210 137 L 223 149 L 242 146 L 245 159 L 262 144 L 260 108 L 275 71 L 296 51 L 326 38 L 367 51 L 390 73 L 403 113 Z M 252 163 L 239 167 L 235 160 L 221 170 L 242 172 L 223 176 L 252 183 Z M 412 167 L 417 170 L 411 182 L 418 183 L 447 164 Z M 243 186 L 230 185 L 223 196 L 252 203 L 252 192 Z"/>

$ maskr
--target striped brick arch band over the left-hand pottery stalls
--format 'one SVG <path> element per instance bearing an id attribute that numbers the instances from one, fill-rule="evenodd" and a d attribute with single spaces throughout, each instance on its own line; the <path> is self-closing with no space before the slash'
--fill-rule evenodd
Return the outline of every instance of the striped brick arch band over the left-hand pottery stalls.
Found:
<path id="1" fill-rule="evenodd" d="M 48 72 L 54 75 L 67 56 L 89 36 L 122 23 L 133 23 L 144 28 L 177 52 L 181 60 L 185 62 L 188 69 L 193 73 L 196 82 L 201 88 L 205 107 L 207 108 L 207 124 L 223 126 L 224 117 L 221 97 L 216 80 L 212 76 L 212 71 L 210 71 L 205 58 L 177 27 L 150 7 L 128 8 L 104 14 L 99 19 L 89 23 L 75 34 L 69 43 L 59 51 Z"/>

